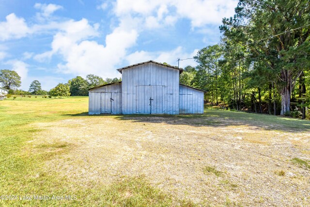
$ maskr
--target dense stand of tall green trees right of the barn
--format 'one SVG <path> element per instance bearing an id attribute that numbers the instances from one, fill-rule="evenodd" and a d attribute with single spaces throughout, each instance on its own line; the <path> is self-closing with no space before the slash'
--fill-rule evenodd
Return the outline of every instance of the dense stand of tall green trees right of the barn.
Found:
<path id="1" fill-rule="evenodd" d="M 205 101 L 238 111 L 310 119 L 308 0 L 240 0 L 221 41 L 202 48 L 180 81 Z"/>

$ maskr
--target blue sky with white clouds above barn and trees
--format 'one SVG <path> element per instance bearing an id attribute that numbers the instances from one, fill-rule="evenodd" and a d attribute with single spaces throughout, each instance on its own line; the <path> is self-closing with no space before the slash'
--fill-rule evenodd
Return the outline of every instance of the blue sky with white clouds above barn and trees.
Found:
<path id="1" fill-rule="evenodd" d="M 121 77 L 148 60 L 177 65 L 219 41 L 237 0 L 0 0 L 0 69 L 16 70 L 23 90 L 76 76 Z M 180 67 L 195 66 L 193 60 Z"/>

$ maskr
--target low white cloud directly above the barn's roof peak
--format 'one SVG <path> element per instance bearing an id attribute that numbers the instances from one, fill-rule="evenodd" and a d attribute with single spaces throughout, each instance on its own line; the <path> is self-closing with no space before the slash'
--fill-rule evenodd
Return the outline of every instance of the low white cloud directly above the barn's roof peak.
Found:
<path id="1" fill-rule="evenodd" d="M 131 53 L 126 57 L 127 62 L 130 64 L 137 64 L 149 60 L 154 60 L 159 63 L 168 63 L 171 65 L 177 66 L 177 57 L 180 59 L 192 58 L 198 52 L 198 49 L 195 49 L 191 53 L 184 52 L 184 48 L 177 47 L 170 51 L 157 51 L 157 52 L 147 52 L 144 50 L 136 51 Z M 180 67 L 186 67 L 187 65 L 196 66 L 197 63 L 193 59 L 188 59 L 180 61 Z"/>

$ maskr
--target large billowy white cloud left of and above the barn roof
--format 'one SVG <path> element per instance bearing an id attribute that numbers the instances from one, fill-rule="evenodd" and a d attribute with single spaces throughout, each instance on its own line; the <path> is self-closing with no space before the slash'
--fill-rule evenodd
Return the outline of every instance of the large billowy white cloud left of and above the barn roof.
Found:
<path id="1" fill-rule="evenodd" d="M 54 35 L 51 50 L 36 55 L 35 60 L 46 61 L 52 55 L 62 56 L 64 63 L 58 64 L 58 72 L 86 76 L 93 73 L 104 78 L 120 76 L 115 70 L 132 47 L 138 33 L 127 29 L 127 25 L 115 28 L 106 36 L 105 46 L 89 40 L 98 36 L 98 25 L 90 25 L 86 19 L 64 23 L 62 31 Z"/>

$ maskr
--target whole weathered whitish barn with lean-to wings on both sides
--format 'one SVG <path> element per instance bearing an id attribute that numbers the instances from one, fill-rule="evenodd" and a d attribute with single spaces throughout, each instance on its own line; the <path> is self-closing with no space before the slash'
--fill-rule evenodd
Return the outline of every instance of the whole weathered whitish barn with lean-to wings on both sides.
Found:
<path id="1" fill-rule="evenodd" d="M 89 89 L 89 114 L 203 113 L 204 91 L 179 83 L 183 69 L 148 61 L 117 70 L 121 82 Z"/>

